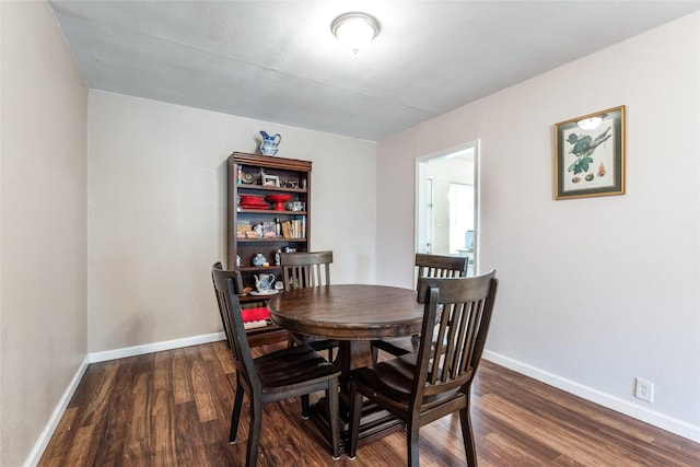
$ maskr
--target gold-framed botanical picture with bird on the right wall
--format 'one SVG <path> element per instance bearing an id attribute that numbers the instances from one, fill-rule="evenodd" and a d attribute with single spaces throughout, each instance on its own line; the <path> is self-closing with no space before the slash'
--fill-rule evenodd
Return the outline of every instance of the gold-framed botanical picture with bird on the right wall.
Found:
<path id="1" fill-rule="evenodd" d="M 556 199 L 625 194 L 625 106 L 555 125 Z"/>

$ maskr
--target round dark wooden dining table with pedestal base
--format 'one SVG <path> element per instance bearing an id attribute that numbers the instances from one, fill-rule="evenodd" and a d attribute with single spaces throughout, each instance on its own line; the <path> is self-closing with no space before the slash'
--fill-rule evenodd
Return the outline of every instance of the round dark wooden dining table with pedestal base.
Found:
<path id="1" fill-rule="evenodd" d="M 341 371 L 340 415 L 343 419 L 341 444 L 348 440 L 348 374 L 372 363 L 371 341 L 420 332 L 423 305 L 417 292 L 386 285 L 339 284 L 296 289 L 275 295 L 267 302 L 270 319 L 292 332 L 338 340 L 335 364 Z M 322 399 L 312 419 L 329 431 L 327 408 Z M 345 406 L 345 407 L 343 407 Z M 366 406 L 360 422 L 359 441 L 364 442 L 400 429 L 393 416 Z"/>

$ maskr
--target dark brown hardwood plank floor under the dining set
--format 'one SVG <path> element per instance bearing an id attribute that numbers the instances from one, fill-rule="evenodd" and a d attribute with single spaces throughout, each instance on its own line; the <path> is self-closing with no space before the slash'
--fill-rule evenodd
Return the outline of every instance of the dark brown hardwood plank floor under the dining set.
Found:
<path id="1" fill-rule="evenodd" d="M 228 443 L 234 388 L 223 341 L 91 364 L 39 466 L 242 466 L 245 442 Z M 481 467 L 700 466 L 700 444 L 487 361 L 471 413 Z M 406 464 L 402 432 L 352 460 L 332 460 L 323 443 L 299 400 L 266 406 L 258 466 Z M 420 456 L 422 466 L 465 466 L 458 418 L 421 429 Z"/>

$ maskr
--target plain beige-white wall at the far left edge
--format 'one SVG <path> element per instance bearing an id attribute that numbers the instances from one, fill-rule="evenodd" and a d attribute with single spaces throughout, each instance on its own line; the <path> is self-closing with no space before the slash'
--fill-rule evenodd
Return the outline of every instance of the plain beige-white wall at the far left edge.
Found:
<path id="1" fill-rule="evenodd" d="M 0 465 L 19 466 L 86 354 L 88 89 L 46 2 L 0 15 Z"/>

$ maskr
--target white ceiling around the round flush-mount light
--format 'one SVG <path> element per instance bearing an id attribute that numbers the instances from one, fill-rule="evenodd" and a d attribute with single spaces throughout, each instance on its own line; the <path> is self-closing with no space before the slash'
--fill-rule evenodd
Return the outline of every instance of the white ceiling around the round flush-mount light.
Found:
<path id="1" fill-rule="evenodd" d="M 91 89 L 375 141 L 700 9 L 700 0 L 50 3 Z M 330 23 L 358 10 L 382 32 L 353 55 Z"/>

